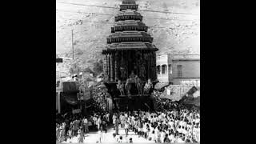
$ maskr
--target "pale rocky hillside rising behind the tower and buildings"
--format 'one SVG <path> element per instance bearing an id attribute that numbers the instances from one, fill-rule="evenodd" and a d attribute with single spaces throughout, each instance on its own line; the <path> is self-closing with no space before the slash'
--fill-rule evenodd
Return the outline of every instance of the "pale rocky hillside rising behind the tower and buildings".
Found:
<path id="1" fill-rule="evenodd" d="M 102 58 L 106 37 L 114 24 L 121 0 L 57 0 L 56 52 L 72 58 L 74 30 L 75 60 L 82 67 Z M 200 54 L 199 0 L 137 0 L 138 12 L 149 26 L 158 54 Z M 72 61 L 73 62 L 73 61 Z M 71 62 L 71 63 L 72 63 Z M 68 69 L 69 63 L 57 65 Z"/>

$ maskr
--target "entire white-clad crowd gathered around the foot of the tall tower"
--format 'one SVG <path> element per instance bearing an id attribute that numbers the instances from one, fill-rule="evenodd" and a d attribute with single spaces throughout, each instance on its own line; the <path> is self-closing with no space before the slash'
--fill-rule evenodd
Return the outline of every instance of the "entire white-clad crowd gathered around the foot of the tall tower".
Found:
<path id="1" fill-rule="evenodd" d="M 57 142 L 68 142 L 74 137 L 78 137 L 78 142 L 83 142 L 85 134 L 91 130 L 98 130 L 97 142 L 102 142 L 107 126 L 112 124 L 116 142 L 123 142 L 124 139 L 118 134 L 119 126 L 125 129 L 126 138 L 133 131 L 138 137 L 153 142 L 200 142 L 200 110 L 197 108 L 183 105 L 182 102 L 159 98 L 160 92 L 155 92 L 157 111 L 116 112 L 110 118 L 110 113 L 106 112 L 106 92 L 94 89 L 92 93 L 94 103 L 88 110 L 90 114 L 58 115 Z M 133 140 L 130 138 L 126 142 Z"/>

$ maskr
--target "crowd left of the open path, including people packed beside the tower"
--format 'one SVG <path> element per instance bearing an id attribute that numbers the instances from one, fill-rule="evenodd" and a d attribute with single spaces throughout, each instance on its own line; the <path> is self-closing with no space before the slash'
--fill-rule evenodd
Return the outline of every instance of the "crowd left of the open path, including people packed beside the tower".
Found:
<path id="1" fill-rule="evenodd" d="M 86 102 L 88 114 L 58 114 L 56 118 L 56 141 L 67 142 L 78 137 L 83 142 L 84 135 L 90 130 L 106 131 L 110 124 L 110 114 L 106 112 L 106 89 L 94 87 L 92 98 Z"/>

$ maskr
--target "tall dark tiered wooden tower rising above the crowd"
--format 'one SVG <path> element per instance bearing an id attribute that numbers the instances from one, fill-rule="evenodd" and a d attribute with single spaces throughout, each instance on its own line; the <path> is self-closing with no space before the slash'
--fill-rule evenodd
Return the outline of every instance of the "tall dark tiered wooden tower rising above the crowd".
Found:
<path id="1" fill-rule="evenodd" d="M 104 84 L 118 110 L 152 109 L 150 98 L 157 81 L 153 38 L 142 22 L 138 5 L 124 0 L 115 16 L 115 25 L 102 50 L 105 57 Z"/>

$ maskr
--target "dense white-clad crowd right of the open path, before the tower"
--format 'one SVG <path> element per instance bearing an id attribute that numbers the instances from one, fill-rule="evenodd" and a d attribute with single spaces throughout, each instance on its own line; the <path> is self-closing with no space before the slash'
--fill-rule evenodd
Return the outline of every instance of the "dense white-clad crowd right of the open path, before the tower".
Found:
<path id="1" fill-rule="evenodd" d="M 126 130 L 126 136 L 129 131 L 134 131 L 138 137 L 148 141 L 200 142 L 200 114 L 195 109 L 122 112 L 114 114 L 113 119 L 116 130 L 114 136 L 118 135 L 120 124 Z"/>

